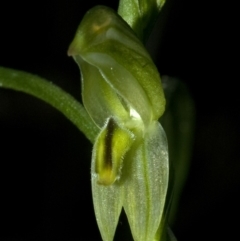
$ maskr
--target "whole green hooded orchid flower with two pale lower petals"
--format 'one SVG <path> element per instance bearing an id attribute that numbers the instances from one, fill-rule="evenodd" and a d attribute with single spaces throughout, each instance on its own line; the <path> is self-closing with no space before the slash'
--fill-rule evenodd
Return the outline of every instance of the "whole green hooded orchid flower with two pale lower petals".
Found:
<path id="1" fill-rule="evenodd" d="M 169 162 L 157 68 L 129 25 L 103 6 L 86 13 L 68 54 L 80 67 L 83 104 L 99 128 L 91 174 L 102 239 L 113 240 L 124 209 L 135 241 L 160 240 Z"/>

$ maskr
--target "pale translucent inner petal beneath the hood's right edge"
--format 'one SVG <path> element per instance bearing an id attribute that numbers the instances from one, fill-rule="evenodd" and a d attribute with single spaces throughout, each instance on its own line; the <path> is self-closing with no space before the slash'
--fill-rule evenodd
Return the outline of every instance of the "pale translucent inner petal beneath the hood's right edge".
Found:
<path id="1" fill-rule="evenodd" d="M 127 109 L 134 109 L 148 125 L 152 119 L 152 108 L 135 77 L 107 54 L 88 53 L 84 55 L 84 60 L 98 68 L 105 81 L 125 102 Z"/>

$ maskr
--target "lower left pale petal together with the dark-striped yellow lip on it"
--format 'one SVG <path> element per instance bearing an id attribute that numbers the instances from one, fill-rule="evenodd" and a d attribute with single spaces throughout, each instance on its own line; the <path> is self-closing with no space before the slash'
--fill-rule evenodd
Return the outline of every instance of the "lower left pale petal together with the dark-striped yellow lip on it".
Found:
<path id="1" fill-rule="evenodd" d="M 109 118 L 94 144 L 91 168 L 93 204 L 104 241 L 113 240 L 122 210 L 122 162 L 133 141 L 134 135 L 130 131 Z"/>

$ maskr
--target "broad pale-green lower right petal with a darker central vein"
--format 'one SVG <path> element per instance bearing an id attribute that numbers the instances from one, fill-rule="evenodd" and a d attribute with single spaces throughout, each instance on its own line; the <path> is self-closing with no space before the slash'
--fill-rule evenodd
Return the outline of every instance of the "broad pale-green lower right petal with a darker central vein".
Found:
<path id="1" fill-rule="evenodd" d="M 123 207 L 134 240 L 152 241 L 162 218 L 169 179 L 167 140 L 158 122 L 149 126 L 144 140 L 128 158 L 123 170 L 128 176 Z"/>

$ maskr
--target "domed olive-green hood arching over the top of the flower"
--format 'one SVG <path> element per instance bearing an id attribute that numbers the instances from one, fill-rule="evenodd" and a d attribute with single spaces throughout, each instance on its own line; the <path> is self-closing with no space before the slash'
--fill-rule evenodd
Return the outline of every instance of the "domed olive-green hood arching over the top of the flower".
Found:
<path id="1" fill-rule="evenodd" d="M 133 30 L 112 9 L 98 6 L 87 12 L 68 54 L 77 62 L 81 56 L 95 66 L 146 126 L 164 112 L 165 98 L 156 66 Z"/>

